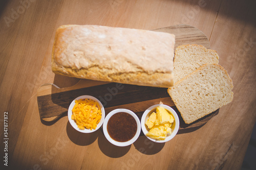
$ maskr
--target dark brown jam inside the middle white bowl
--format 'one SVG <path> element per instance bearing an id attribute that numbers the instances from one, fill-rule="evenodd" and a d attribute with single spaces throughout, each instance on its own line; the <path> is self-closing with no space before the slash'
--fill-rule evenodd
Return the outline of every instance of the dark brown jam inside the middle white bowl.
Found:
<path id="1" fill-rule="evenodd" d="M 131 114 L 119 112 L 110 117 L 106 129 L 112 139 L 125 142 L 135 136 L 137 123 Z"/>

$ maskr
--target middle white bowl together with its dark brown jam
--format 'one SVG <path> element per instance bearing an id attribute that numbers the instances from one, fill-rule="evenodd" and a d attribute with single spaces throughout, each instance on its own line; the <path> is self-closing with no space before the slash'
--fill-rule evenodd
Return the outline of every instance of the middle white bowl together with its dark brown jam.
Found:
<path id="1" fill-rule="evenodd" d="M 106 115 L 103 133 L 106 139 L 118 147 L 126 147 L 135 142 L 140 135 L 140 120 L 128 109 L 115 109 Z"/>

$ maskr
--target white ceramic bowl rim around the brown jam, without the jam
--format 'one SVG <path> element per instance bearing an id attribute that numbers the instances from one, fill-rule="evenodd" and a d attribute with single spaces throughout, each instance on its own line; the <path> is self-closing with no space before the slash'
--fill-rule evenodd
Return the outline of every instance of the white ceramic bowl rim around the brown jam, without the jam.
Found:
<path id="1" fill-rule="evenodd" d="M 135 118 L 136 123 L 137 123 L 137 132 L 136 132 L 136 134 L 134 135 L 134 137 L 131 140 L 126 141 L 126 142 L 118 142 L 118 141 L 112 139 L 110 137 L 109 133 L 108 133 L 108 130 L 106 129 L 106 126 L 108 125 L 110 117 L 113 116 L 116 113 L 119 113 L 119 112 L 124 112 L 124 113 L 131 114 Z M 118 147 L 126 147 L 126 146 L 132 144 L 133 142 L 135 142 L 138 139 L 139 135 L 140 135 L 140 130 L 141 130 L 141 127 L 140 127 L 140 120 L 139 120 L 138 116 L 134 112 L 132 112 L 131 110 L 128 110 L 128 109 L 112 110 L 108 115 L 106 115 L 104 123 L 103 123 L 103 133 L 104 133 L 106 139 L 108 139 L 112 144 L 114 144 Z"/>

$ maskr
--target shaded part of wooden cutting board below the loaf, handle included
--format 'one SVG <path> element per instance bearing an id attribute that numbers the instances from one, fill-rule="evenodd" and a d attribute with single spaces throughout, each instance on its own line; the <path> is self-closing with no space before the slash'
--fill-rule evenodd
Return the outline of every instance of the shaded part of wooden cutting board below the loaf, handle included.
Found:
<path id="1" fill-rule="evenodd" d="M 81 84 L 81 83 L 78 83 Z M 207 121 L 218 114 L 215 111 L 192 124 L 185 124 L 180 112 L 167 93 L 167 88 L 137 86 L 130 84 L 107 83 L 97 86 L 78 88 L 75 85 L 65 90 L 57 88 L 53 84 L 41 86 L 44 89 L 42 95 L 37 96 L 39 114 L 42 120 L 52 121 L 61 115 L 67 115 L 70 103 L 80 95 L 95 96 L 104 105 L 105 113 L 116 108 L 130 109 L 141 119 L 143 112 L 150 106 L 162 102 L 172 107 L 180 119 L 179 133 L 194 131 L 203 126 Z M 119 89 L 117 88 L 119 87 Z M 66 91 L 67 90 L 67 91 Z M 40 90 L 38 91 L 41 92 Z"/>

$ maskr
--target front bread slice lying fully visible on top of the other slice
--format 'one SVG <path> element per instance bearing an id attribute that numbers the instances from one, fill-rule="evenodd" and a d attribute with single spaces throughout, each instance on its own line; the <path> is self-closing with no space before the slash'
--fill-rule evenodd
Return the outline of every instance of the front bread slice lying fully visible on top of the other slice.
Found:
<path id="1" fill-rule="evenodd" d="M 204 64 L 168 88 L 186 124 L 216 111 L 233 99 L 233 83 L 218 64 Z"/>

